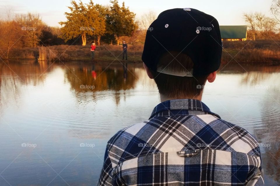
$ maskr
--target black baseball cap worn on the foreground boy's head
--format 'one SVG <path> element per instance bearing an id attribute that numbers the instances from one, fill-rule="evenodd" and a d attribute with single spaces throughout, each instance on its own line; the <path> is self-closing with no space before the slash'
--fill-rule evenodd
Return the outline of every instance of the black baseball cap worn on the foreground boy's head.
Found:
<path id="1" fill-rule="evenodd" d="M 187 54 L 194 63 L 193 69 L 183 75 L 157 69 L 160 57 L 169 51 Z M 153 71 L 176 76 L 199 76 L 218 70 L 221 56 L 222 40 L 218 21 L 193 8 L 174 8 L 160 13 L 150 25 L 142 61 Z"/>

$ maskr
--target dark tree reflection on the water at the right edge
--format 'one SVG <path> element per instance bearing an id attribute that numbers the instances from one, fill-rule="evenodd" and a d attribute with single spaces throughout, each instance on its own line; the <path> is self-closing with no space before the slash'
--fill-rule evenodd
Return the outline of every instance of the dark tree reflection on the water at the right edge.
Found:
<path id="1" fill-rule="evenodd" d="M 275 80 L 277 75 L 274 76 Z M 267 94 L 262 100 L 262 113 L 260 118 L 263 123 L 262 128 L 255 130 L 255 135 L 261 139 L 263 145 L 262 160 L 265 164 L 265 171 L 269 177 L 280 183 L 280 85 L 276 80 L 275 87 L 267 89 Z"/>

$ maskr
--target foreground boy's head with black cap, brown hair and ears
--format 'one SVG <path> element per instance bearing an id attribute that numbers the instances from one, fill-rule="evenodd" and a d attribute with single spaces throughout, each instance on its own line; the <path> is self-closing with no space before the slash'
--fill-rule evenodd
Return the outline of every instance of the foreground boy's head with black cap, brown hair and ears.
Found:
<path id="1" fill-rule="evenodd" d="M 161 95 L 192 98 L 213 82 L 222 47 L 217 20 L 199 10 L 166 10 L 150 25 L 142 55 Z"/>

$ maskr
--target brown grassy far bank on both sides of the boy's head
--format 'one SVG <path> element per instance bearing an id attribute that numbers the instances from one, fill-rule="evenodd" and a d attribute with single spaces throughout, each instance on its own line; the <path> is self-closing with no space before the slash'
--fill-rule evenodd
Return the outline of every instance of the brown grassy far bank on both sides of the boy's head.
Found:
<path id="1" fill-rule="evenodd" d="M 56 45 L 43 48 L 19 48 L 11 51 L 10 59 L 37 59 L 42 57 L 49 61 L 92 61 L 90 45 Z M 141 62 L 143 44 L 129 45 L 128 61 Z M 234 57 L 234 59 L 232 59 Z M 116 59 L 117 58 L 117 59 Z M 117 45 L 97 46 L 95 61 L 122 60 L 122 47 Z M 280 62 L 280 41 L 223 41 L 222 63 L 273 63 Z"/>

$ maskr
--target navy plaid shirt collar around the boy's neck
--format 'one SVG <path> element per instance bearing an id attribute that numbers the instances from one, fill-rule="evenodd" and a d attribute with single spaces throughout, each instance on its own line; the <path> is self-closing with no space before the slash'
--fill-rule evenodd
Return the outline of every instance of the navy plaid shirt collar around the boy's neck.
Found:
<path id="1" fill-rule="evenodd" d="M 211 112 L 210 109 L 206 106 L 206 104 L 194 99 L 168 100 L 161 102 L 154 108 L 150 118 L 153 118 L 154 116 L 200 114 L 212 114 L 220 118 L 218 114 Z"/>

